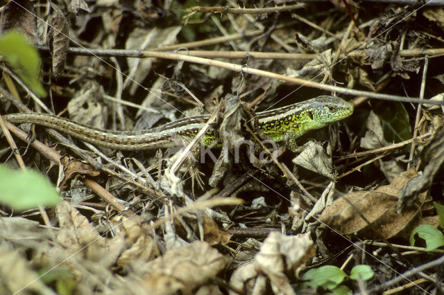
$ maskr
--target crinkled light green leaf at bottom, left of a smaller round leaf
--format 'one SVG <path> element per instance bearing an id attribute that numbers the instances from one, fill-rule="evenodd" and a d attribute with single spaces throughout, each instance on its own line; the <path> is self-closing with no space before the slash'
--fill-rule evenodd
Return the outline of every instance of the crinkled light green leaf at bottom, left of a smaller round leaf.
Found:
<path id="1" fill-rule="evenodd" d="M 341 284 L 346 276 L 339 267 L 325 265 L 317 269 L 310 269 L 302 276 L 302 280 L 308 280 L 306 285 L 309 287 L 321 286 L 332 290 Z"/>

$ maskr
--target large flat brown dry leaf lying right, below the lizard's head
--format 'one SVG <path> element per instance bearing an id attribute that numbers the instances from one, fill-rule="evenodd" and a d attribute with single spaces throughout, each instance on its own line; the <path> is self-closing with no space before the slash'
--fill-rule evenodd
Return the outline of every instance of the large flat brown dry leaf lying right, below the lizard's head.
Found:
<path id="1" fill-rule="evenodd" d="M 396 213 L 396 204 L 400 190 L 416 175 L 418 173 L 411 169 L 393 179 L 388 186 L 343 195 L 325 208 L 319 220 L 339 233 L 356 233 L 361 238 L 388 239 L 408 233 L 418 224 L 425 194 L 420 195 L 416 206 L 401 214 Z"/>

